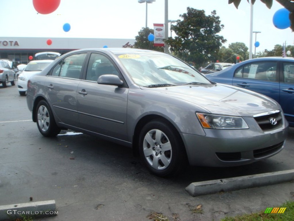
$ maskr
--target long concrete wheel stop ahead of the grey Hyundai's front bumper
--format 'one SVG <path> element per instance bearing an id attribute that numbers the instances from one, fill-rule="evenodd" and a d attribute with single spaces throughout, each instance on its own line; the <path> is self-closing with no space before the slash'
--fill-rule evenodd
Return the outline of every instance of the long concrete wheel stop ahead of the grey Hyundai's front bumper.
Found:
<path id="1" fill-rule="evenodd" d="M 213 194 L 220 191 L 232 191 L 252 187 L 267 186 L 294 180 L 294 169 L 255 174 L 243 177 L 208 180 L 191 183 L 186 191 L 193 197 Z"/>

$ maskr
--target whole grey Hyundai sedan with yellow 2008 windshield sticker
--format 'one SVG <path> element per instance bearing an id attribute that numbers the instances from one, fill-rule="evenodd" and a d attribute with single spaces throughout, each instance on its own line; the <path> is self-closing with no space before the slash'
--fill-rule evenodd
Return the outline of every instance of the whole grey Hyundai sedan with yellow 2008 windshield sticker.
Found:
<path id="1" fill-rule="evenodd" d="M 186 164 L 237 166 L 273 156 L 288 122 L 274 100 L 212 83 L 178 58 L 103 48 L 69 52 L 28 81 L 44 136 L 71 129 L 132 147 L 158 176 Z"/>

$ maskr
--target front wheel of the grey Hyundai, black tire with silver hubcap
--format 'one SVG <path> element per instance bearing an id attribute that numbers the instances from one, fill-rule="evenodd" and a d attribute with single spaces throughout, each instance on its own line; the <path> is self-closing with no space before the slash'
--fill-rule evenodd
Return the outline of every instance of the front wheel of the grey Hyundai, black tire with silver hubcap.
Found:
<path id="1" fill-rule="evenodd" d="M 187 165 L 180 134 L 171 123 L 162 120 L 150 121 L 142 128 L 139 152 L 148 170 L 159 177 L 178 175 Z"/>

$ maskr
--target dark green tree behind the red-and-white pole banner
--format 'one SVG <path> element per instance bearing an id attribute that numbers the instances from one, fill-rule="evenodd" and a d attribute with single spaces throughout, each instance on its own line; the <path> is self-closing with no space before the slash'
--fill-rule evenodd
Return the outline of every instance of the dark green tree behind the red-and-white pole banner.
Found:
<path id="1" fill-rule="evenodd" d="M 138 35 L 135 37 L 136 42 L 134 43 L 134 47 L 139 49 L 148 49 L 163 52 L 163 47 L 154 47 L 153 42 L 148 40 L 149 34 L 154 34 L 154 30 L 148 27 L 142 28 L 140 32 L 138 32 Z"/>

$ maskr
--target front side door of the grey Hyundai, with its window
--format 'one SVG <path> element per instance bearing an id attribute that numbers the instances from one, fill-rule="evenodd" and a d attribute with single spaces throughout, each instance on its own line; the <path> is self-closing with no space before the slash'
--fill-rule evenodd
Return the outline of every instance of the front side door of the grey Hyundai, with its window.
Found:
<path id="1" fill-rule="evenodd" d="M 92 53 L 85 80 L 78 85 L 78 120 L 81 128 L 127 141 L 128 88 L 97 83 L 103 74 L 118 75 L 114 62 L 107 56 Z"/>

